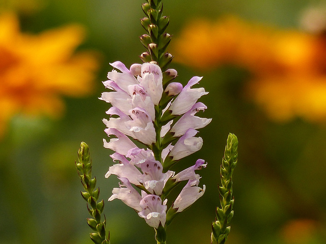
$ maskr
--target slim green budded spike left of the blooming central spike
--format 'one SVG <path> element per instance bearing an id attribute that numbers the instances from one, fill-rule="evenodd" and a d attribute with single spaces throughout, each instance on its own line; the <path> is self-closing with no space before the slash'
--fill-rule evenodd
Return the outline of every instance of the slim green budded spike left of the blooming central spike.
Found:
<path id="1" fill-rule="evenodd" d="M 80 192 L 87 202 L 87 209 L 92 218 L 87 219 L 87 224 L 95 232 L 90 233 L 92 241 L 96 244 L 110 244 L 110 232 L 106 238 L 106 220 L 101 221 L 101 214 L 104 209 L 104 201 L 98 202 L 100 189 L 96 187 L 96 178 L 92 179 L 92 161 L 90 160 L 89 147 L 85 142 L 80 143 L 78 150 L 78 163 L 75 162 L 80 181 L 85 192 Z M 95 190 L 94 190 L 95 189 Z"/>

